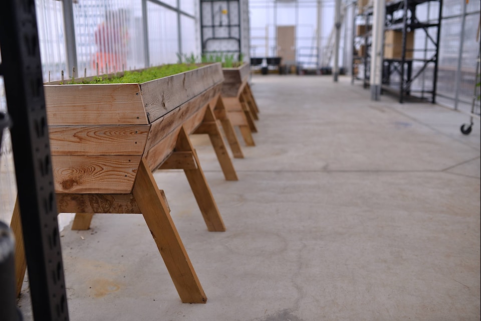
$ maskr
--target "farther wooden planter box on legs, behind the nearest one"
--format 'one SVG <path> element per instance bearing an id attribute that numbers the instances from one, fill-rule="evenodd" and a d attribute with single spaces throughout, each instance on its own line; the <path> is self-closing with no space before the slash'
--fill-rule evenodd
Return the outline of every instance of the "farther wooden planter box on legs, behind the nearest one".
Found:
<path id="1" fill-rule="evenodd" d="M 222 68 L 221 96 L 232 125 L 239 126 L 246 145 L 254 146 L 252 132 L 257 132 L 254 120 L 258 119 L 259 109 L 248 83 L 250 68 L 248 63 L 237 68 Z"/>

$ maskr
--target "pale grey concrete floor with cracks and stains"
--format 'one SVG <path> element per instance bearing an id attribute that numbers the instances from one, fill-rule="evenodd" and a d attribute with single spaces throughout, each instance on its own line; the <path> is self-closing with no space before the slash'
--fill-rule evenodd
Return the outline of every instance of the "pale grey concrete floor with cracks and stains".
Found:
<path id="1" fill-rule="evenodd" d="M 194 137 L 226 232 L 207 232 L 183 172 L 154 174 L 206 304 L 180 302 L 142 216 L 96 215 L 61 233 L 70 319 L 479 320 L 479 121 L 464 136 L 465 114 L 349 81 L 254 76 L 238 182 Z M 25 282 L 26 320 L 29 299 Z"/>

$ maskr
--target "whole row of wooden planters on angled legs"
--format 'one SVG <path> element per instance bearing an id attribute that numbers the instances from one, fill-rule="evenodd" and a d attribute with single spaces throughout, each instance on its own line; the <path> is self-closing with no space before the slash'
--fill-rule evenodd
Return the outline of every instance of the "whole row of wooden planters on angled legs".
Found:
<path id="1" fill-rule="evenodd" d="M 225 179 L 237 180 L 224 140 L 242 158 L 239 126 L 254 145 L 259 110 L 248 76 L 248 64 L 178 64 L 44 86 L 58 211 L 76 213 L 72 229 L 88 229 L 94 214 L 141 213 L 182 302 L 207 297 L 152 173 L 184 170 L 207 229 L 225 231 L 189 135 L 208 134 Z M 16 204 L 12 229 L 22 240 L 18 216 Z M 16 265 L 20 293 L 26 263 Z"/>

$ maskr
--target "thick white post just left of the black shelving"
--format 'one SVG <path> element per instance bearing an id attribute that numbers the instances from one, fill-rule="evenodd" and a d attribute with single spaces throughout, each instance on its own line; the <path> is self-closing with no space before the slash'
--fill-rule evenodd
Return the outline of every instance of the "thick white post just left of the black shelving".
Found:
<path id="1" fill-rule="evenodd" d="M 371 100 L 379 100 L 382 82 L 382 55 L 384 40 L 384 16 L 386 13 L 385 0 L 374 0 L 372 45 L 371 45 L 371 72 L 369 84 L 371 87 Z"/>

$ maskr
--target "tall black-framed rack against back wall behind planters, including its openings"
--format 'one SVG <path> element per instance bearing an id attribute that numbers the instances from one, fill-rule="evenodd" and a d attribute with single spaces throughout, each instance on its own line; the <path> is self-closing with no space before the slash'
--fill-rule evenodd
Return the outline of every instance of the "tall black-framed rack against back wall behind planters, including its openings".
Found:
<path id="1" fill-rule="evenodd" d="M 239 0 L 200 0 L 202 54 L 242 52 Z"/>

